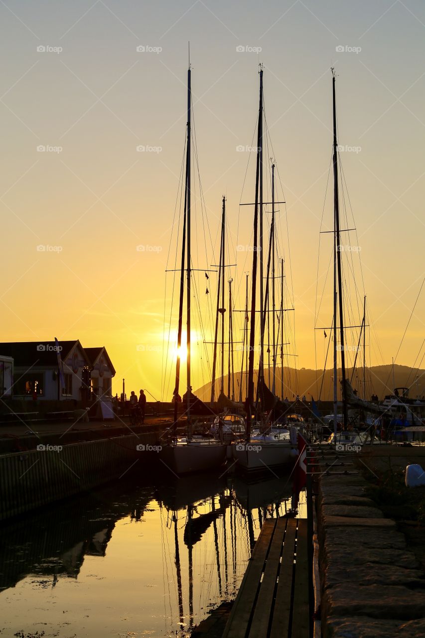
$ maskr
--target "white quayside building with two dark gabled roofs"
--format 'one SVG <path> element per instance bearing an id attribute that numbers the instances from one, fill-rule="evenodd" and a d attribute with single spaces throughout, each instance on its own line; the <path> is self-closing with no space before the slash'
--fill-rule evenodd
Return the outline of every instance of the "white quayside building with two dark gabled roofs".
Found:
<path id="1" fill-rule="evenodd" d="M 78 339 L 17 341 L 0 343 L 0 354 L 0 360 L 13 362 L 14 383 L 10 385 L 13 388 L 11 394 L 17 399 L 30 396 L 50 401 L 89 401 L 93 390 L 100 388 L 101 394 L 106 394 L 105 390 L 110 394 L 115 369 L 104 347 L 86 351 Z"/>

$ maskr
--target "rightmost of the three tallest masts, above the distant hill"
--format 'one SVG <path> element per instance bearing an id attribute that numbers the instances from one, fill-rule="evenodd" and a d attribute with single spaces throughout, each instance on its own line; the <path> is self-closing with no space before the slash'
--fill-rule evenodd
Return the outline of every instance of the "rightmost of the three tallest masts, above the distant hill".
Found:
<path id="1" fill-rule="evenodd" d="M 342 401 L 343 401 L 343 427 L 348 426 L 347 389 L 345 387 L 345 343 L 344 343 L 344 313 L 342 297 L 342 269 L 341 269 L 341 236 L 339 232 L 339 193 L 338 193 L 338 140 L 336 136 L 336 98 L 335 98 L 335 71 L 332 68 L 332 105 L 334 120 L 334 224 L 335 241 L 334 253 L 336 253 L 336 267 L 338 270 L 338 302 L 339 302 L 339 343 L 341 345 L 341 376 L 342 376 Z M 335 308 L 334 308 L 335 310 Z M 336 327 L 336 314 L 334 315 L 334 331 Z M 334 333 L 335 334 L 335 333 Z M 336 343 L 334 343 L 334 348 Z M 334 379 L 335 384 L 335 379 Z"/>

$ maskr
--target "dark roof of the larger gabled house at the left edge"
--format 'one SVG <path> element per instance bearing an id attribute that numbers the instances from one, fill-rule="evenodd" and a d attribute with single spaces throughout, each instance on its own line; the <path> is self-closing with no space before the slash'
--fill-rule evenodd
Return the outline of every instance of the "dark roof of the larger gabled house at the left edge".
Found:
<path id="1" fill-rule="evenodd" d="M 66 359 L 71 350 L 78 344 L 84 352 L 80 341 L 59 341 L 61 359 Z M 0 354 L 12 357 L 15 366 L 57 366 L 57 353 L 54 341 L 12 341 L 0 343 Z M 86 355 L 87 356 L 87 355 Z"/>

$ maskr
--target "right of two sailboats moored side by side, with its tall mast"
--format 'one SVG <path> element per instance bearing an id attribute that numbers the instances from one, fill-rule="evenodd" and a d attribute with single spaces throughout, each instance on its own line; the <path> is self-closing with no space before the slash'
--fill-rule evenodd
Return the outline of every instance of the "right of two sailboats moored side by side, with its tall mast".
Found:
<path id="1" fill-rule="evenodd" d="M 237 464 L 244 470 L 264 470 L 272 466 L 281 466 L 290 463 L 296 454 L 296 441 L 290 440 L 287 430 L 269 433 L 253 434 L 253 413 L 255 412 L 254 400 L 254 350 L 255 350 L 255 315 L 257 295 L 257 261 L 260 255 L 260 359 L 258 370 L 257 394 L 262 412 L 267 403 L 271 403 L 274 409 L 278 403 L 277 397 L 267 389 L 264 381 L 264 325 L 267 304 L 264 304 L 264 276 L 263 276 L 263 68 L 260 66 L 260 104 L 258 110 L 257 131 L 257 167 L 255 177 L 255 204 L 254 204 L 254 230 L 253 230 L 253 267 L 252 290 L 250 312 L 250 343 L 248 357 L 248 398 L 246 401 L 246 441 L 244 443 L 232 443 L 232 455 Z M 273 171 L 274 175 L 274 171 Z M 274 188 L 272 188 L 272 211 L 274 214 Z M 283 203 L 283 202 L 280 202 Z M 274 221 L 274 218 L 273 218 Z M 259 222 L 259 224 L 258 224 Z M 259 233 L 258 233 L 259 225 Z M 259 235 L 259 242 L 258 242 Z M 263 305 L 264 304 L 264 305 Z M 273 344 L 274 348 L 274 344 Z"/>

